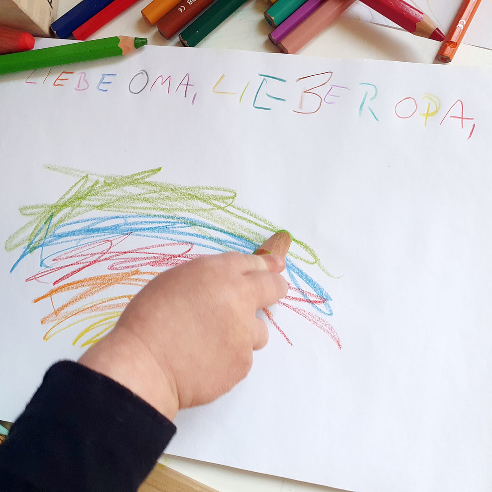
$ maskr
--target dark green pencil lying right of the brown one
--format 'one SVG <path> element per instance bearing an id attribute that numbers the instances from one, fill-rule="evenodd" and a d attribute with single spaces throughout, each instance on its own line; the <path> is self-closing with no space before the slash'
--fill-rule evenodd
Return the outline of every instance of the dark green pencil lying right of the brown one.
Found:
<path id="1" fill-rule="evenodd" d="M 196 46 L 247 0 L 217 0 L 179 35 L 184 46 Z"/>

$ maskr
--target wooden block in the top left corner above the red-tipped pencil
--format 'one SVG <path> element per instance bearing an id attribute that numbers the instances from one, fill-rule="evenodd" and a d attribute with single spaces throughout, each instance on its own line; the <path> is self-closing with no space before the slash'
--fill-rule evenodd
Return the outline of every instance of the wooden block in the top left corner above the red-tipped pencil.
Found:
<path id="1" fill-rule="evenodd" d="M 0 0 L 0 23 L 50 37 L 50 25 L 56 19 L 58 0 Z"/>

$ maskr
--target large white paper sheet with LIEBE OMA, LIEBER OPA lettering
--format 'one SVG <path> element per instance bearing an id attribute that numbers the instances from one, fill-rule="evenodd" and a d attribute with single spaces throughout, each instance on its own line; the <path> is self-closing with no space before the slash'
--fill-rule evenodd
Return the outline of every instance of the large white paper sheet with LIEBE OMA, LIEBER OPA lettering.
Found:
<path id="1" fill-rule="evenodd" d="M 160 246 L 145 262 L 145 246 L 251 250 L 279 227 L 307 245 L 291 249 L 291 283 L 318 297 L 287 300 L 297 312 L 271 308 L 278 329 L 250 374 L 181 412 L 167 451 L 360 492 L 490 491 L 491 75 L 149 46 L 2 77 L 1 417 L 15 418 L 52 362 L 76 359 L 108 327 L 74 347 L 101 321 L 88 316 L 119 309 L 82 306 L 138 289 L 121 281 L 72 303 L 86 290 L 63 285 L 183 255 Z M 179 186 L 220 190 L 190 198 Z M 148 225 L 149 212 L 187 227 L 145 236 L 134 221 L 147 214 Z M 95 217 L 105 220 L 80 222 Z"/>

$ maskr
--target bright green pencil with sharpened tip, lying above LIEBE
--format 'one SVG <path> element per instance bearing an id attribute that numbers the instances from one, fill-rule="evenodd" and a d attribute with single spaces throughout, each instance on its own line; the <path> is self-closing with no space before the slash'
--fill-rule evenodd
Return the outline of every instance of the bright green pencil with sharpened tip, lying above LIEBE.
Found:
<path id="1" fill-rule="evenodd" d="M 145 38 L 114 36 L 23 53 L 11 53 L 0 56 L 0 74 L 127 55 L 145 44 L 147 44 Z"/>

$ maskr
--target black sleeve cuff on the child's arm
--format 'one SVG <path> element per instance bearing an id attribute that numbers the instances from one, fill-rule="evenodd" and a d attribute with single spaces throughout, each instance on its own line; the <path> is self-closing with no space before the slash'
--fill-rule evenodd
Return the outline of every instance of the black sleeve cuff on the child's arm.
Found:
<path id="1" fill-rule="evenodd" d="M 0 446 L 0 490 L 136 491 L 175 432 L 113 379 L 58 362 Z"/>

